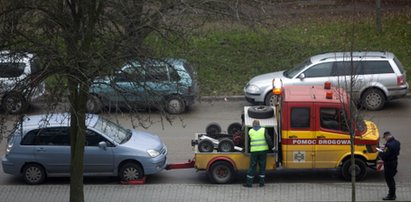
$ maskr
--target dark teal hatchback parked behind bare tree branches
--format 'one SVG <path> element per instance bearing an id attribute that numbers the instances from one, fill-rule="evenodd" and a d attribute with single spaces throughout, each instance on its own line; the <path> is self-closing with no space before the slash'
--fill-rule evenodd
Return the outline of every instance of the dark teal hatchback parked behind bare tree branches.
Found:
<path id="1" fill-rule="evenodd" d="M 90 113 L 106 107 L 155 107 L 179 114 L 195 103 L 196 72 L 182 59 L 133 61 L 114 76 L 95 80 L 87 102 Z"/>

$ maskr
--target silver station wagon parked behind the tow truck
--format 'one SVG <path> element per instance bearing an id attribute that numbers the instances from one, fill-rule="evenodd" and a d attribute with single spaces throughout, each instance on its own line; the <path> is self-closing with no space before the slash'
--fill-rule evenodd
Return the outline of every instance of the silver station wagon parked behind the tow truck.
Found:
<path id="1" fill-rule="evenodd" d="M 350 68 L 353 67 L 353 68 Z M 353 75 L 353 76 L 351 76 Z M 281 79 L 283 85 L 322 85 L 350 90 L 353 99 L 368 110 L 379 110 L 392 99 L 408 93 L 406 71 L 390 52 L 332 52 L 312 56 L 286 71 L 262 74 L 252 78 L 244 87 L 251 103 L 272 105 L 272 81 Z"/>

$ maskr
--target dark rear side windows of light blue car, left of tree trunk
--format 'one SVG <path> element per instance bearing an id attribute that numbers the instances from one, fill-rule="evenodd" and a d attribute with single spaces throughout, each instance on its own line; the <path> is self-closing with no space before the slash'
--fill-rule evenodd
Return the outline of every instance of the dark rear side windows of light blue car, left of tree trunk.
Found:
<path id="1" fill-rule="evenodd" d="M 21 145 L 70 145 L 67 127 L 40 128 L 28 132 Z"/>

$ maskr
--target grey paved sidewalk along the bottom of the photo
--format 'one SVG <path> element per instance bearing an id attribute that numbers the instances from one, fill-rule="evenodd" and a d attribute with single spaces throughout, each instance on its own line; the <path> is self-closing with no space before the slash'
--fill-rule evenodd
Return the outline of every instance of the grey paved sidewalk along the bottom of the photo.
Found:
<path id="1" fill-rule="evenodd" d="M 385 183 L 357 183 L 357 201 L 382 201 Z M 85 185 L 85 201 L 97 202 L 272 202 L 351 201 L 351 183 Z M 69 201 L 69 185 L 2 185 L 0 201 Z M 411 183 L 397 184 L 397 200 L 411 201 Z"/>

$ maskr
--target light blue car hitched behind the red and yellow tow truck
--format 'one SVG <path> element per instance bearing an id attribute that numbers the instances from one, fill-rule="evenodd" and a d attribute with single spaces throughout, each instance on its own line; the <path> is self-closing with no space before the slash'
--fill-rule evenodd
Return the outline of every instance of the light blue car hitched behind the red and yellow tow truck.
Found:
<path id="1" fill-rule="evenodd" d="M 130 181 L 160 172 L 167 147 L 156 135 L 125 129 L 101 116 L 88 114 L 84 176 L 118 176 Z M 70 115 L 32 115 L 7 139 L 3 171 L 22 176 L 28 184 L 46 177 L 70 175 Z"/>

